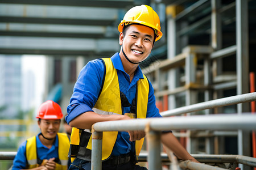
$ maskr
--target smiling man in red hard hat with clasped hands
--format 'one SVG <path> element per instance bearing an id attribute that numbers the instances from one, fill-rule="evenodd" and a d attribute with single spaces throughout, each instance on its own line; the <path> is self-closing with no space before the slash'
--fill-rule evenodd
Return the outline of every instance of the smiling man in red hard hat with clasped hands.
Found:
<path id="1" fill-rule="evenodd" d="M 36 118 L 41 132 L 19 146 L 13 169 L 67 169 L 69 139 L 67 134 L 58 133 L 62 117 L 54 101 L 40 105 Z"/>

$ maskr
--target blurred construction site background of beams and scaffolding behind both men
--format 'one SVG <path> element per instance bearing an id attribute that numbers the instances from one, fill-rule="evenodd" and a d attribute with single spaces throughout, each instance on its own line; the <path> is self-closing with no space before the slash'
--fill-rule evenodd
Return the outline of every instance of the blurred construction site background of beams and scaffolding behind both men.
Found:
<path id="1" fill-rule="evenodd" d="M 56 101 L 65 114 L 79 71 L 119 52 L 117 25 L 141 4 L 159 14 L 164 35 L 140 65 L 160 112 L 255 91 L 254 0 L 1 1 L 0 151 L 16 151 L 39 133 L 35 113 L 43 101 Z M 255 103 L 183 115 L 251 112 Z M 256 145 L 252 133 L 241 130 L 174 134 L 191 154 L 253 156 Z M 0 160 L 0 167 L 11 163 Z"/>

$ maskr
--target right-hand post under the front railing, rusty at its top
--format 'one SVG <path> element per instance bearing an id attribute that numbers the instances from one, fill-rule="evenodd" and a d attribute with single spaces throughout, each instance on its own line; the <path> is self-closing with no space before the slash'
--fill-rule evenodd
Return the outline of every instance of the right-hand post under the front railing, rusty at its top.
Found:
<path id="1" fill-rule="evenodd" d="M 148 170 L 162 169 L 162 162 L 160 156 L 160 131 L 147 131 L 148 143 Z"/>

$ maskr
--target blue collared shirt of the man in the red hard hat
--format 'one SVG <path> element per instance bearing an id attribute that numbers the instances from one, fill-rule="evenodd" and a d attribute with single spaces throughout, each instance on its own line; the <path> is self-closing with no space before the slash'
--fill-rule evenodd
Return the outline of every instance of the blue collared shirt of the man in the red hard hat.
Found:
<path id="1" fill-rule="evenodd" d="M 41 133 L 39 133 L 41 134 Z M 36 135 L 36 152 L 38 155 L 38 158 L 43 159 L 50 159 L 50 158 L 59 158 L 59 152 L 58 152 L 58 143 L 59 139 L 56 135 L 55 142 L 53 143 L 51 148 L 48 148 L 42 144 L 42 142 L 39 139 L 39 134 Z M 17 154 L 13 160 L 13 170 L 18 169 L 25 169 L 27 165 L 27 157 L 26 157 L 26 145 L 27 141 L 23 142 L 17 151 Z"/>

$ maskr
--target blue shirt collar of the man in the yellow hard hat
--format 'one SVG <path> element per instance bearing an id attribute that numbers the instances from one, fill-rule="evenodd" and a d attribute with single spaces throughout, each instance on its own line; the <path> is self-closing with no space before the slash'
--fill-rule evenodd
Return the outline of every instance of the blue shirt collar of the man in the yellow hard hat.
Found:
<path id="1" fill-rule="evenodd" d="M 119 56 L 119 53 L 115 53 L 111 57 L 111 61 L 113 62 L 113 65 L 114 65 L 115 69 L 121 70 L 121 71 L 123 71 L 125 73 L 125 70 L 123 69 L 123 64 L 122 64 L 121 58 Z M 144 79 L 141 67 L 139 67 L 139 66 L 135 70 L 134 78 L 135 77 L 138 78 L 138 79 Z"/>

